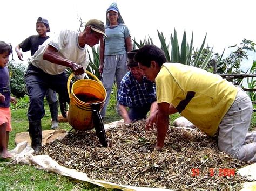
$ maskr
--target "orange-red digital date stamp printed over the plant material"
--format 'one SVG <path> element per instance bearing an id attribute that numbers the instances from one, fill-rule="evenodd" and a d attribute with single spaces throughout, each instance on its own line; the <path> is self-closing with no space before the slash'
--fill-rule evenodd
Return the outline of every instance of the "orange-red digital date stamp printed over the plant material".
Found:
<path id="1" fill-rule="evenodd" d="M 192 168 L 191 169 L 191 176 L 192 177 L 196 177 L 200 175 L 200 171 L 199 168 Z M 209 175 L 210 177 L 218 175 L 218 176 L 222 176 L 222 177 L 231 177 L 231 176 L 235 176 L 235 169 L 233 168 L 209 168 Z"/>

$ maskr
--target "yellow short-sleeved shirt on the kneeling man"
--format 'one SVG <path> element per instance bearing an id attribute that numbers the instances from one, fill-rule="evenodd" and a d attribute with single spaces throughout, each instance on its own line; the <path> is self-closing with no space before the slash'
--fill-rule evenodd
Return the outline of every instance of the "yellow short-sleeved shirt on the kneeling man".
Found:
<path id="1" fill-rule="evenodd" d="M 180 63 L 165 63 L 156 77 L 157 103 L 172 104 L 190 122 L 213 136 L 237 95 L 221 76 Z"/>

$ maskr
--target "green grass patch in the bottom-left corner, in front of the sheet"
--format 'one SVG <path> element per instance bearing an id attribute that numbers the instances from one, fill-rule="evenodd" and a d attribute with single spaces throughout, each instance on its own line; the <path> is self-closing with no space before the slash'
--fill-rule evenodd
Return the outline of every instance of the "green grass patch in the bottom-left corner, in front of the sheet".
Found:
<path id="1" fill-rule="evenodd" d="M 112 190 L 29 165 L 0 162 L 0 190 Z"/>

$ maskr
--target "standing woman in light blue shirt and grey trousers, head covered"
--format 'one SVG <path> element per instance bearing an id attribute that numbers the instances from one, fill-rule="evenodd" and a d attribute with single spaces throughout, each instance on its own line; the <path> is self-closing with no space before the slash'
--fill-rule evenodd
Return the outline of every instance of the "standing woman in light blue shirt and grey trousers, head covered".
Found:
<path id="1" fill-rule="evenodd" d="M 116 3 L 112 3 L 106 11 L 105 33 L 107 37 L 100 41 L 100 66 L 102 83 L 106 88 L 107 97 L 102 109 L 102 117 L 105 117 L 107 105 L 116 80 L 117 91 L 120 82 L 127 72 L 127 52 L 132 50 L 132 40 L 128 27 L 120 15 Z"/>

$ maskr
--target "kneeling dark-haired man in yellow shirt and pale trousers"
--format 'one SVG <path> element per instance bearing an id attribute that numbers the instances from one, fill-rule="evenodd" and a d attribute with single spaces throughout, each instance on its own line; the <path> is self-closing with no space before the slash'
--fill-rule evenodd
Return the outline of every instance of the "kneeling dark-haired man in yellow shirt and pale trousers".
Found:
<path id="1" fill-rule="evenodd" d="M 219 130 L 219 150 L 256 161 L 256 132 L 247 133 L 252 102 L 242 89 L 203 69 L 165 63 L 165 53 L 154 45 L 140 48 L 135 60 L 147 79 L 156 82 L 158 111 L 146 128 L 156 122 L 157 150 L 164 146 L 169 115 L 179 112 L 209 136 Z"/>

